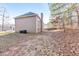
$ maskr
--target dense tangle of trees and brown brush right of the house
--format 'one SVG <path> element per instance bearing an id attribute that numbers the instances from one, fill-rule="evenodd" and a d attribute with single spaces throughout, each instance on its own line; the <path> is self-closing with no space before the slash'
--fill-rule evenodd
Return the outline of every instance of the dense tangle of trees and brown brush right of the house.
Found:
<path id="1" fill-rule="evenodd" d="M 79 29 L 79 4 L 53 3 L 49 4 L 52 25 L 58 29 Z M 76 25 L 76 26 L 75 26 Z"/>

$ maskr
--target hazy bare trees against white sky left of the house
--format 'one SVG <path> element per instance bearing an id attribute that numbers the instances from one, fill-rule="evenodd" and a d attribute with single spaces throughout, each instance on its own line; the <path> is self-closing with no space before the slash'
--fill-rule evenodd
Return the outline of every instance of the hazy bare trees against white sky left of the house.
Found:
<path id="1" fill-rule="evenodd" d="M 12 30 L 11 17 L 5 7 L 0 7 L 0 31 Z"/>

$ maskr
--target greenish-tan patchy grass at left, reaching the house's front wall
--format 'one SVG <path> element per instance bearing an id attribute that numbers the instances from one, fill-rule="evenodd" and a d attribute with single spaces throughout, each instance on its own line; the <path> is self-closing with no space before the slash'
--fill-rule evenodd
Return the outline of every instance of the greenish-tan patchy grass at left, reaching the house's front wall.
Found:
<path id="1" fill-rule="evenodd" d="M 0 32 L 0 52 L 8 50 L 10 46 L 14 46 L 23 40 L 30 40 L 35 33 L 20 34 L 15 32 Z"/>

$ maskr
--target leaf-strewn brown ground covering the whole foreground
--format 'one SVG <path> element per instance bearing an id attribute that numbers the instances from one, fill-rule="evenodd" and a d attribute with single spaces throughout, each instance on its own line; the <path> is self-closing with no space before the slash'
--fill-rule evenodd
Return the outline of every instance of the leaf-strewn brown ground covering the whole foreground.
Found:
<path id="1" fill-rule="evenodd" d="M 79 56 L 79 31 L 12 33 L 0 37 L 1 56 Z"/>

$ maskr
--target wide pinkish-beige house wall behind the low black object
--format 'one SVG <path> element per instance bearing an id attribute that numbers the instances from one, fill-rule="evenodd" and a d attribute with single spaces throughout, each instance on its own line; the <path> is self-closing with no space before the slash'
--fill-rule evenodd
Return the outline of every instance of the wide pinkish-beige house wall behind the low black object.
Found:
<path id="1" fill-rule="evenodd" d="M 27 32 L 36 32 L 36 16 L 15 19 L 15 31 L 27 30 Z"/>

